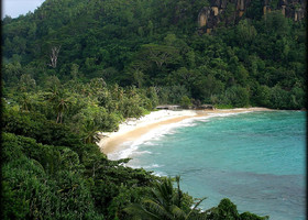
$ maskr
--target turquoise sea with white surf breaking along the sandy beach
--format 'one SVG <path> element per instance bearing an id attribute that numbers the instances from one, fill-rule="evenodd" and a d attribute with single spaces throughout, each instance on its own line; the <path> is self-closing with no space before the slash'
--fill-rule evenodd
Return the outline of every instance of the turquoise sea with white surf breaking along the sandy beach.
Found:
<path id="1" fill-rule="evenodd" d="M 239 212 L 272 220 L 306 219 L 306 112 L 209 114 L 150 131 L 123 143 L 111 160 L 158 176 L 180 176 L 180 188 L 206 200 L 229 198 Z"/>

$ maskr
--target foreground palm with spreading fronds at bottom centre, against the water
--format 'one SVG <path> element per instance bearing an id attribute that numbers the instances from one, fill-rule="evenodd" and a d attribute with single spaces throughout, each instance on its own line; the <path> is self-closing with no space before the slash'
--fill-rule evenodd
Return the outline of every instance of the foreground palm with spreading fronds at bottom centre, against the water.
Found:
<path id="1" fill-rule="evenodd" d="M 172 179 L 165 178 L 156 184 L 151 191 L 151 198 L 142 199 L 141 204 L 133 204 L 124 209 L 136 219 L 148 220 L 188 220 L 194 210 L 206 198 L 200 199 L 196 206 L 185 210 L 183 193 L 179 188 L 179 176 L 176 177 L 177 190 L 174 190 Z"/>

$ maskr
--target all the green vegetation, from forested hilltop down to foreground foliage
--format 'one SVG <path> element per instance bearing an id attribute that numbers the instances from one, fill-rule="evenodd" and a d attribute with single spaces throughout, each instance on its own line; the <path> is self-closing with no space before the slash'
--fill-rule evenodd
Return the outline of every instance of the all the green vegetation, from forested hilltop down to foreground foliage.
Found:
<path id="1" fill-rule="evenodd" d="M 306 23 L 255 2 L 201 35 L 200 0 L 46 0 L 4 18 L 1 219 L 266 219 L 229 199 L 200 211 L 178 177 L 95 144 L 160 103 L 304 108 Z"/>

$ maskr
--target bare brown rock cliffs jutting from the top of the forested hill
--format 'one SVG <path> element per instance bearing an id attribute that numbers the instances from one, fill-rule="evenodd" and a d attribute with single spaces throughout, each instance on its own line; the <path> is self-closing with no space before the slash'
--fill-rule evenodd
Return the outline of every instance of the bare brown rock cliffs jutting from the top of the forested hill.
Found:
<path id="1" fill-rule="evenodd" d="M 210 33 L 220 23 L 234 24 L 244 14 L 252 0 L 210 0 L 210 7 L 199 11 L 199 33 Z M 279 0 L 273 8 L 272 0 L 263 1 L 263 14 L 280 10 L 286 18 L 294 21 L 302 20 L 306 16 L 306 0 Z M 223 24 L 222 24 L 223 25 Z"/>

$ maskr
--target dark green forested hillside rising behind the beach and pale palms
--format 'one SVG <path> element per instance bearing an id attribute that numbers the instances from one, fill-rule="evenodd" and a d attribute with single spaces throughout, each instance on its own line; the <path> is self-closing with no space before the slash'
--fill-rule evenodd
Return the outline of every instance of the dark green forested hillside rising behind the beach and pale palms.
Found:
<path id="1" fill-rule="evenodd" d="M 7 16 L 4 96 L 22 84 L 44 90 L 51 78 L 102 78 L 108 85 L 155 87 L 161 103 L 178 103 L 165 97 L 178 90 L 202 103 L 304 108 L 306 21 L 280 11 L 263 15 L 257 0 L 241 20 L 200 35 L 197 19 L 205 6 L 209 2 L 46 0 L 34 13 Z"/>

